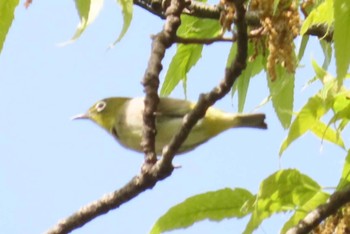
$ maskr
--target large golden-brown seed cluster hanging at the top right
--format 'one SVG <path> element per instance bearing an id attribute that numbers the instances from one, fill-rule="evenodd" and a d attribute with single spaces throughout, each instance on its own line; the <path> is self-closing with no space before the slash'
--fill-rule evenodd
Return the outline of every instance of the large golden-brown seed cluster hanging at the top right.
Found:
<path id="1" fill-rule="evenodd" d="M 259 34 L 266 35 L 269 49 L 267 72 L 271 80 L 277 78 L 277 64 L 294 73 L 296 58 L 293 40 L 299 34 L 301 25 L 298 0 L 280 0 L 275 10 L 274 0 L 252 0 L 249 10 L 258 12 L 262 25 Z"/>

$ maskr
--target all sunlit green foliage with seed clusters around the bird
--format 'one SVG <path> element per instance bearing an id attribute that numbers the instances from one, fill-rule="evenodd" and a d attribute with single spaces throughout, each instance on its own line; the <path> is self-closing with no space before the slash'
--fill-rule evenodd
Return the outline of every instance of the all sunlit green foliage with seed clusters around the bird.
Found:
<path id="1" fill-rule="evenodd" d="M 121 6 L 124 22 L 113 45 L 127 33 L 133 4 L 164 19 L 170 1 L 118 0 L 117 3 Z M 0 51 L 18 4 L 18 0 L 0 1 Z M 72 38 L 63 44 L 74 42 L 83 34 L 101 13 L 102 4 L 102 0 L 75 1 L 80 24 Z M 177 51 L 166 72 L 160 95 L 169 95 L 180 83 L 183 84 L 184 92 L 188 91 L 187 74 L 201 59 L 205 44 L 222 41 L 231 43 L 226 65 L 229 67 L 238 50 L 236 40 L 239 35 L 234 24 L 238 9 L 235 4 L 234 0 L 223 0 L 218 6 L 187 2 L 174 38 Z M 320 141 L 328 141 L 344 149 L 345 160 L 339 183 L 332 195 L 297 169 L 279 170 L 262 179 L 256 194 L 245 188 L 225 188 L 190 197 L 160 217 L 151 233 L 185 228 L 204 219 L 218 221 L 248 215 L 250 219 L 244 233 L 252 233 L 271 215 L 286 211 L 293 212 L 293 215 L 283 225 L 282 233 L 307 233 L 311 229 L 314 233 L 335 229 L 347 233 L 350 227 L 349 205 L 346 204 L 350 200 L 347 198 L 350 151 L 343 130 L 350 116 L 350 92 L 346 87 L 350 64 L 350 2 L 251 0 L 244 2 L 244 6 L 249 35 L 248 63 L 232 87 L 232 95 L 238 97 L 238 110 L 244 110 L 250 80 L 257 74 L 265 73 L 270 91 L 265 103 L 272 102 L 281 127 L 288 130 L 281 142 L 279 155 L 282 157 L 291 143 L 311 132 Z M 294 84 L 295 79 L 298 79 L 295 71 L 300 66 L 299 61 L 309 46 L 311 36 L 319 37 L 324 63 L 320 65 L 312 60 L 308 64 L 315 73 L 308 85 L 320 81 L 322 87 L 313 96 L 305 97 L 305 104 L 300 110 L 294 110 Z M 297 37 L 301 37 L 302 41 L 298 49 L 294 45 Z M 336 61 L 336 74 L 327 71 L 332 58 Z M 312 216 L 315 213 L 317 217 Z M 300 222 L 308 214 L 311 214 L 313 222 Z"/>

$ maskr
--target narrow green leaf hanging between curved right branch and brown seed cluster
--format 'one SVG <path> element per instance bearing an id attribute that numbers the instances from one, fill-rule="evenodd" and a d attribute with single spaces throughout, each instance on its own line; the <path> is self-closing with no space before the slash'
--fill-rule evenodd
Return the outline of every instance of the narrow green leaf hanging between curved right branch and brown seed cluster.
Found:
<path id="1" fill-rule="evenodd" d="M 236 54 L 237 50 L 237 43 L 232 45 L 231 54 Z M 252 43 L 248 44 L 248 58 L 250 58 L 255 53 L 254 45 Z M 230 60 L 230 59 L 229 59 Z M 232 96 L 234 95 L 235 91 L 238 90 L 238 111 L 243 112 L 245 100 L 248 93 L 248 87 L 250 83 L 250 79 L 253 78 L 255 75 L 259 74 L 263 69 L 263 56 L 259 54 L 256 56 L 256 58 L 252 61 L 249 61 L 247 63 L 246 69 L 243 70 L 242 74 L 239 76 L 237 81 L 234 84 L 234 87 L 232 88 Z"/>

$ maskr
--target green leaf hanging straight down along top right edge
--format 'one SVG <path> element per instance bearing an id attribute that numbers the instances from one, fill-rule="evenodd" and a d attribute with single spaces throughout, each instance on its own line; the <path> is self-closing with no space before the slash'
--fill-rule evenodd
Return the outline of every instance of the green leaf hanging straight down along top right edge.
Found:
<path id="1" fill-rule="evenodd" d="M 329 10 L 330 11 L 330 10 Z M 334 49 L 337 77 L 343 80 L 350 64 L 350 1 L 334 1 Z M 342 83 L 342 82 L 340 82 Z"/>

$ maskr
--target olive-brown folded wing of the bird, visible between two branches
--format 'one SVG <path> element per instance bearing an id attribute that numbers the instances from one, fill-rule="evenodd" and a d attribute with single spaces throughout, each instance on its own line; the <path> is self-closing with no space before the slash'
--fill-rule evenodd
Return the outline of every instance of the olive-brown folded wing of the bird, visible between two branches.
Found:
<path id="1" fill-rule="evenodd" d="M 161 98 L 156 115 L 159 117 L 183 118 L 192 110 L 193 106 L 193 103 L 186 100 Z"/>

